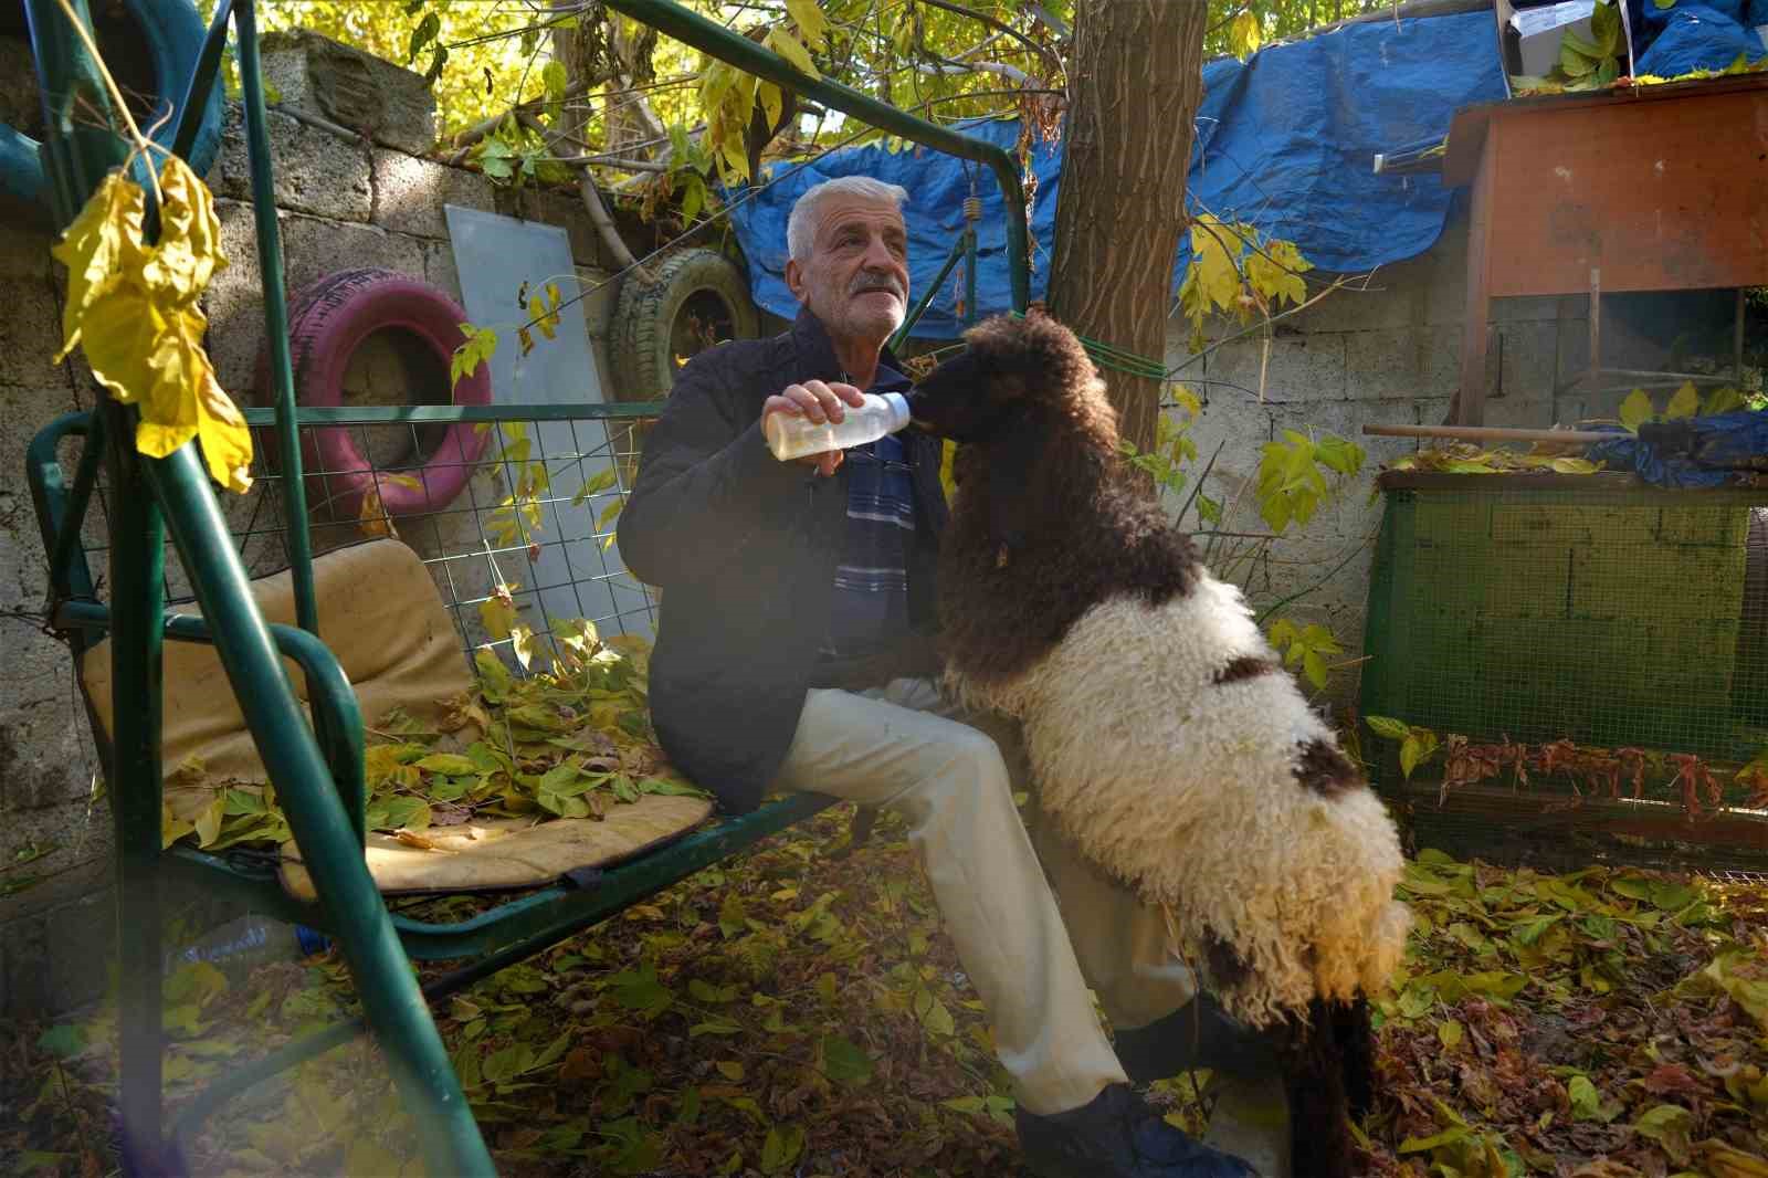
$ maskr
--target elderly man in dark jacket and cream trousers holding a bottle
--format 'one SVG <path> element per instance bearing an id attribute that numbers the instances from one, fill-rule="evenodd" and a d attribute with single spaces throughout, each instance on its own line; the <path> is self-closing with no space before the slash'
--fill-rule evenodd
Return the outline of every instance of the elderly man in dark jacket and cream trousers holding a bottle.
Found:
<path id="1" fill-rule="evenodd" d="M 840 421 L 861 389 L 909 386 L 884 347 L 909 302 L 905 198 L 865 177 L 806 191 L 787 225 L 797 322 L 675 379 L 619 525 L 631 571 L 665 591 L 658 736 L 734 812 L 787 789 L 903 814 L 1036 1174 L 1250 1173 L 1162 1121 L 1132 1079 L 1257 1067 L 1259 1052 L 1192 1001 L 1158 913 L 1061 845 L 1040 867 L 1001 745 L 934 686 L 939 442 L 909 432 L 778 462 L 762 440 L 769 414 Z"/>

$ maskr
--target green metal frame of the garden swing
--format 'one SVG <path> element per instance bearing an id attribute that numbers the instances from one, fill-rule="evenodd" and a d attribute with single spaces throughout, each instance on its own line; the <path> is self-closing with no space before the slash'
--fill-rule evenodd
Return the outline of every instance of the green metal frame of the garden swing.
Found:
<path id="1" fill-rule="evenodd" d="M 987 164 L 1006 195 L 1013 306 L 1025 310 L 1025 212 L 1018 198 L 1018 166 L 1004 150 L 905 115 L 849 87 L 806 78 L 773 51 L 668 0 L 608 4 L 739 69 L 790 85 L 872 126 Z M 72 7 L 90 28 L 87 0 L 72 0 Z M 58 0 L 27 0 L 25 11 L 46 111 L 42 156 L 51 179 L 53 212 L 57 225 L 67 225 L 99 180 L 126 163 L 127 150 L 104 126 L 111 110 L 106 88 L 90 55 L 67 25 Z M 69 635 L 76 654 L 106 633 L 111 639 L 111 692 L 118 706 L 103 759 L 117 847 L 118 976 L 127 982 L 118 998 L 124 1167 L 127 1173 L 180 1169 L 179 1143 L 221 1102 L 281 1068 L 371 1029 L 419 1123 L 430 1173 L 490 1174 L 495 1173 L 490 1153 L 426 1001 L 580 932 L 741 847 L 810 817 L 833 799 L 797 794 L 771 801 L 753 814 L 720 821 L 608 870 L 594 886 L 543 888 L 474 920 L 426 923 L 389 913 L 362 858 L 362 716 L 336 656 L 316 637 L 299 430 L 318 425 L 642 419 L 656 416 L 661 407 L 297 409 L 253 0 L 221 0 L 217 5 L 189 81 L 186 119 L 173 147 L 182 154 L 193 142 L 193 111 L 202 110 L 216 85 L 230 28 L 239 46 L 265 334 L 271 341 L 276 394 L 274 410 L 248 410 L 248 421 L 274 426 L 276 432 L 285 518 L 290 520 L 297 626 L 265 624 L 249 591 L 246 568 L 228 543 L 226 522 L 194 446 L 184 446 L 166 458 L 141 456 L 133 446 L 138 412 L 106 398 L 94 412 L 69 414 L 46 426 L 27 453 L 44 550 L 51 554 L 55 626 Z M 143 164 L 136 161 L 134 166 L 140 170 Z M 150 228 L 156 225 L 150 214 Z M 967 226 L 955 246 L 939 281 L 944 281 L 960 256 L 969 260 L 967 290 L 972 292 L 969 304 L 974 315 L 974 225 Z M 925 299 L 916 315 L 921 310 Z M 74 440 L 81 444 L 81 453 L 69 483 L 58 453 Z M 95 580 L 80 545 L 101 467 L 111 495 L 110 605 L 95 600 Z M 189 573 L 202 608 L 200 619 L 166 614 L 163 573 L 168 532 Z M 161 851 L 161 649 L 166 640 L 207 642 L 216 647 L 313 877 L 318 904 L 292 900 L 265 868 L 187 847 Z M 311 727 L 285 676 L 285 656 L 306 677 L 313 704 Z M 200 877 L 214 895 L 244 900 L 256 911 L 329 932 L 348 964 L 364 1014 L 359 1022 L 292 1044 L 205 1090 L 182 1113 L 168 1137 L 161 1082 L 159 897 L 170 877 L 186 874 Z M 408 966 L 408 959 L 467 957 L 477 960 L 423 989 Z"/>

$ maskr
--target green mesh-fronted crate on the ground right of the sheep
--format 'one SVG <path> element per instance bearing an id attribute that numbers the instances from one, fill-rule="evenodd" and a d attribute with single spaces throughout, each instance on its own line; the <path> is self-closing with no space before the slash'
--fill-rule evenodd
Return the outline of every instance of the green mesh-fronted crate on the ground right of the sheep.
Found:
<path id="1" fill-rule="evenodd" d="M 1381 492 L 1365 716 L 1473 745 L 1572 741 L 1717 769 L 1768 748 L 1768 490 L 1390 472 Z M 1363 743 L 1377 787 L 1467 853 L 1768 861 L 1768 828 L 1738 808 L 1738 789 L 1703 821 L 1681 812 L 1665 771 L 1641 798 L 1595 796 L 1565 773 L 1444 791 L 1441 757 L 1407 780 L 1397 743 L 1372 731 Z"/>

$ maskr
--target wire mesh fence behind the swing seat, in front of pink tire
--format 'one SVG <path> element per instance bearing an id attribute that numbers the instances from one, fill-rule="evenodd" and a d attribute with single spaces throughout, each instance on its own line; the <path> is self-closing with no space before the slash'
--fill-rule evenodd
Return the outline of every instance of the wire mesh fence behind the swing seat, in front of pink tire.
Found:
<path id="1" fill-rule="evenodd" d="M 217 495 L 248 575 L 260 578 L 290 566 L 290 522 L 271 414 L 248 417 L 253 486 Z M 605 637 L 651 639 L 656 593 L 626 570 L 615 543 L 651 421 L 622 405 L 331 410 L 324 425 L 299 430 L 311 550 L 396 536 L 424 561 L 469 660 L 483 647 L 511 654 L 520 640 L 486 626 L 481 607 L 493 600 L 543 658 L 582 623 Z M 71 453 L 62 465 L 72 470 Z M 110 520 L 111 488 L 101 479 L 81 536 L 101 598 Z M 168 605 L 193 601 L 170 545 L 164 580 Z"/>

